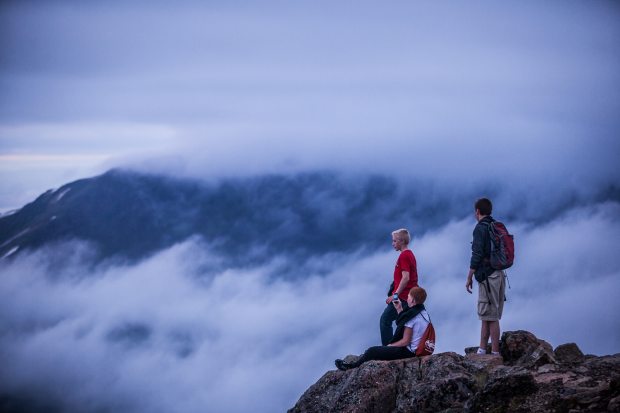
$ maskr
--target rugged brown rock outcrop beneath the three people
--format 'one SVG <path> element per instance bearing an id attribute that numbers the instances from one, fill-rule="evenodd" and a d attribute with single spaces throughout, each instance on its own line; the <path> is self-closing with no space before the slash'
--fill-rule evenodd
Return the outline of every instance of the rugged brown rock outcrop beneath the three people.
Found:
<path id="1" fill-rule="evenodd" d="M 329 371 L 289 413 L 620 412 L 620 353 L 554 350 L 527 331 L 504 332 L 500 356 L 476 349 Z"/>

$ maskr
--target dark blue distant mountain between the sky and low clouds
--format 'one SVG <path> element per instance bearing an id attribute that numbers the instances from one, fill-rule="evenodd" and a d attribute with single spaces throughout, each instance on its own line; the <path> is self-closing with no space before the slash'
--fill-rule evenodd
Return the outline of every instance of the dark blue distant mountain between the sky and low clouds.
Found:
<path id="1" fill-rule="evenodd" d="M 502 195 L 486 192 L 496 194 Z M 316 172 L 209 182 L 111 170 L 47 191 L 0 217 L 0 257 L 80 240 L 95 247 L 94 262 L 135 261 L 194 237 L 224 258 L 239 259 L 238 266 L 276 254 L 303 263 L 326 253 L 389 248 L 392 230 L 408 227 L 420 236 L 469 216 L 478 196 L 473 189 L 440 190 L 376 175 Z M 529 217 L 527 200 L 504 199 L 501 216 L 542 222 L 584 202 L 573 194 L 558 199 L 537 205 Z M 620 191 L 609 188 L 585 202 L 609 199 L 620 200 Z"/>

